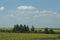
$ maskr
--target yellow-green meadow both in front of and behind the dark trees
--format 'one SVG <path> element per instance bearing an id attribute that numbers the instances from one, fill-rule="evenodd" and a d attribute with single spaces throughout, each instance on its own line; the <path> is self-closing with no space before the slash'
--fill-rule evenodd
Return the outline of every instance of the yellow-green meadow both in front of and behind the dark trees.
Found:
<path id="1" fill-rule="evenodd" d="M 44 31 L 43 28 L 39 28 Z M 35 29 L 35 30 L 39 30 Z M 12 30 L 12 28 L 0 28 L 0 30 Z M 55 32 L 60 32 L 60 29 L 54 29 Z M 36 39 L 53 39 L 60 37 L 60 34 L 44 34 L 44 33 L 12 33 L 0 32 L 0 40 L 36 40 Z"/>

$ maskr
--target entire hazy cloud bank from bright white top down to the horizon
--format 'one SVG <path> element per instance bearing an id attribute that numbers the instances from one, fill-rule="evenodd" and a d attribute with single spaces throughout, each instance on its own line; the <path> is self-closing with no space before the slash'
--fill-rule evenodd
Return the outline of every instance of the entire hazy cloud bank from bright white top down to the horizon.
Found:
<path id="1" fill-rule="evenodd" d="M 36 27 L 59 27 L 59 20 L 60 14 L 57 12 L 38 10 L 33 6 L 18 6 L 16 10 L 9 11 L 5 17 L 2 17 L 0 24 L 27 24 L 35 25 Z"/>

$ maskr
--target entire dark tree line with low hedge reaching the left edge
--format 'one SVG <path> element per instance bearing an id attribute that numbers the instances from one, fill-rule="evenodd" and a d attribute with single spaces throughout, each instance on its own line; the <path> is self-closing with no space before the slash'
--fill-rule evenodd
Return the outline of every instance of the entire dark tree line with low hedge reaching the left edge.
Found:
<path id="1" fill-rule="evenodd" d="M 57 32 L 54 32 L 54 29 L 52 28 L 43 28 L 44 31 L 41 29 L 36 30 L 36 28 L 32 25 L 31 28 L 29 28 L 28 25 L 14 25 L 14 28 L 12 30 L 0 30 L 0 32 L 15 32 L 15 33 L 45 33 L 45 34 L 56 34 Z M 60 32 L 59 32 L 60 33 Z M 57 33 L 58 34 L 58 33 Z"/>

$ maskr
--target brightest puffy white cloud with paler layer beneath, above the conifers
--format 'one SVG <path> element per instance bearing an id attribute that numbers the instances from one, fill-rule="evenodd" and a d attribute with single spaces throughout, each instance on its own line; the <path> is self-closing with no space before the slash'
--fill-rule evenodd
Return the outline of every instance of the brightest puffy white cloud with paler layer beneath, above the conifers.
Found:
<path id="1" fill-rule="evenodd" d="M 33 15 L 33 14 L 37 14 L 40 11 L 33 7 L 33 6 L 19 6 L 17 7 L 17 9 L 19 10 L 13 10 L 8 12 L 8 15 L 15 15 L 15 16 L 20 16 L 20 15 Z"/>

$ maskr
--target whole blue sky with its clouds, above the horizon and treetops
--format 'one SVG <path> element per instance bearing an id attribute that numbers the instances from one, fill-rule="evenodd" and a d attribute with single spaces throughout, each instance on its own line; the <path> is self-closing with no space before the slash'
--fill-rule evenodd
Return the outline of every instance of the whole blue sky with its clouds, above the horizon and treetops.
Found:
<path id="1" fill-rule="evenodd" d="M 60 0 L 0 0 L 0 27 L 15 24 L 60 28 Z"/>

